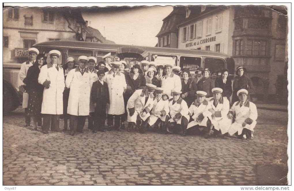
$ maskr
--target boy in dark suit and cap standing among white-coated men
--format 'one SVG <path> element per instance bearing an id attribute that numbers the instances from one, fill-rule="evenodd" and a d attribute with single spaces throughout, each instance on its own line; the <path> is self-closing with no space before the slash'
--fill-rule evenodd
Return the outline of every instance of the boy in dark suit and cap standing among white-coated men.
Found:
<path id="1" fill-rule="evenodd" d="M 93 83 L 91 97 L 95 106 L 94 128 L 93 133 L 97 131 L 105 132 L 106 108 L 109 107 L 109 92 L 104 70 L 97 72 L 98 80 Z"/>

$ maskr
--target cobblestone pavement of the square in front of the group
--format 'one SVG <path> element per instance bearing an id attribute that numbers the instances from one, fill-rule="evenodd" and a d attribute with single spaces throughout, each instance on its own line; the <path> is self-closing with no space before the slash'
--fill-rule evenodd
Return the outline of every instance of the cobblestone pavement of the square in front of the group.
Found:
<path id="1" fill-rule="evenodd" d="M 258 109 L 250 141 L 126 130 L 93 134 L 87 123 L 74 137 L 47 135 L 22 127 L 23 114 L 19 108 L 3 117 L 4 185 L 257 185 L 258 164 L 287 169 L 287 112 Z"/>

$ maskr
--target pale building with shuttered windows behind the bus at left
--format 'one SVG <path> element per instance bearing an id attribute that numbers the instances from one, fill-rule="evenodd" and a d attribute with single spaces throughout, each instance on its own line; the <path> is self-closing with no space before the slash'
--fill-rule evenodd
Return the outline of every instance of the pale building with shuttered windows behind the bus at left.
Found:
<path id="1" fill-rule="evenodd" d="M 81 12 L 71 8 L 3 9 L 3 62 L 22 63 L 36 43 L 54 40 L 105 42 L 88 27 Z"/>

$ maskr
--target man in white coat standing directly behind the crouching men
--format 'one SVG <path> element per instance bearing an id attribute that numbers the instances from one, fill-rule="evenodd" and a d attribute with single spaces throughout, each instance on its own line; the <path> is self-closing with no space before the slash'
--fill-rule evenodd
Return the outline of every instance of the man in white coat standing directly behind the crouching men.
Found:
<path id="1" fill-rule="evenodd" d="M 163 94 L 168 95 L 169 99 L 171 99 L 172 89 L 175 89 L 176 91 L 181 91 L 182 89 L 181 78 L 178 75 L 172 73 L 171 64 L 165 64 L 163 67 L 166 75 L 161 78 L 161 87 L 163 88 Z"/>

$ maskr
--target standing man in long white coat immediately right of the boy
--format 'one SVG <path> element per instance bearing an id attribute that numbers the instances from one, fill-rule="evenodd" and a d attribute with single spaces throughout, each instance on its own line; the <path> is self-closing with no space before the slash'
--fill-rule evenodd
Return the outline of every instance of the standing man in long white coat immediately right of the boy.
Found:
<path id="1" fill-rule="evenodd" d="M 125 75 L 119 72 L 120 62 L 112 62 L 112 69 L 105 73 L 104 81 L 108 85 L 109 90 L 109 107 L 107 110 L 107 124 L 108 131 L 113 129 L 113 116 L 114 128 L 121 131 L 120 119 L 121 114 L 125 113 L 125 104 L 123 99 L 123 92 L 126 91 L 126 78 Z"/>

